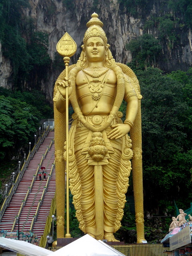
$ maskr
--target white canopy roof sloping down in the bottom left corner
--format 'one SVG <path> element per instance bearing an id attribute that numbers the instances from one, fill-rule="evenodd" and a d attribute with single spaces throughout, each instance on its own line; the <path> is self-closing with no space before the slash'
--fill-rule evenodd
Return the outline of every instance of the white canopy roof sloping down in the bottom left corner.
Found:
<path id="1" fill-rule="evenodd" d="M 6 248 L 13 252 L 19 252 L 26 256 L 47 256 L 52 252 L 25 241 L 0 237 L 0 247 Z"/>

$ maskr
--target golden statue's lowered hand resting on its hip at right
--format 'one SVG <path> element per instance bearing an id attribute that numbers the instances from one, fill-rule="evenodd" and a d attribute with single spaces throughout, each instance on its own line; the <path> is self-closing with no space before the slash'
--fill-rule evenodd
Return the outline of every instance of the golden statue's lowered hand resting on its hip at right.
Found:
<path id="1" fill-rule="evenodd" d="M 107 137 L 108 139 L 119 139 L 123 136 L 125 136 L 126 134 L 128 134 L 128 132 L 131 129 L 131 126 L 128 124 L 114 124 L 111 126 L 111 128 L 113 128 L 108 134 Z"/>

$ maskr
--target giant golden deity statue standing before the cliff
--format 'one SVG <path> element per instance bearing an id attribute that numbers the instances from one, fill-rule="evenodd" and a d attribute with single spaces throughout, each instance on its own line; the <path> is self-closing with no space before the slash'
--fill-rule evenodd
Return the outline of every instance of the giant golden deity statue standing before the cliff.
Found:
<path id="1" fill-rule="evenodd" d="M 142 96 L 134 72 L 113 59 L 102 26 L 98 15 L 92 14 L 77 64 L 69 66 L 68 78 L 65 70 L 60 74 L 54 88 L 57 237 L 64 237 L 68 87 L 74 109 L 68 138 L 69 178 L 79 228 L 97 240 L 117 241 L 114 233 L 121 226 L 133 169 L 137 242 L 142 242 Z M 119 112 L 123 99 L 124 123 Z"/>

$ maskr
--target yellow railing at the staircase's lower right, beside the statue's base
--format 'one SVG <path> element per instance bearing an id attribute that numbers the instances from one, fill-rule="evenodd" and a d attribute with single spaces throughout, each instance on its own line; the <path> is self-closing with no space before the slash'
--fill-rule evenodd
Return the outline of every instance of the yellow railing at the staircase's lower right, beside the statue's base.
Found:
<path id="1" fill-rule="evenodd" d="M 52 215 L 55 214 L 55 210 L 56 210 L 56 196 L 54 195 L 54 198 L 52 199 L 52 202 L 51 202 L 50 212 L 46 220 L 44 233 L 40 239 L 40 243 L 39 243 L 40 247 L 45 248 L 46 246 L 47 235 L 50 233 L 51 224 L 52 224 Z"/>

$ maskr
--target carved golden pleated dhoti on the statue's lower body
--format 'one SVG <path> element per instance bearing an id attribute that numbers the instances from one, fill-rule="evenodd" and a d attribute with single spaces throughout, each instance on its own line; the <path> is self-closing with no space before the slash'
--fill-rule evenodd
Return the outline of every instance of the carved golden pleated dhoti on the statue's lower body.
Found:
<path id="1" fill-rule="evenodd" d="M 100 119 L 100 116 L 96 117 Z M 105 121 L 107 117 L 102 118 Z M 92 116 L 86 120 L 92 124 Z M 113 120 L 112 124 L 118 122 L 122 122 L 120 118 Z M 88 154 L 93 132 L 76 120 L 70 130 L 70 143 L 74 144 L 74 147 L 70 145 L 70 149 L 74 148 L 70 156 L 70 189 L 74 195 L 76 216 L 81 230 L 96 239 L 103 239 L 104 232 L 114 233 L 120 228 L 131 170 L 130 139 L 126 135 L 118 140 L 109 140 L 106 134 L 110 130 L 108 127 L 102 132 L 107 154 L 99 162 L 92 161 Z"/>

